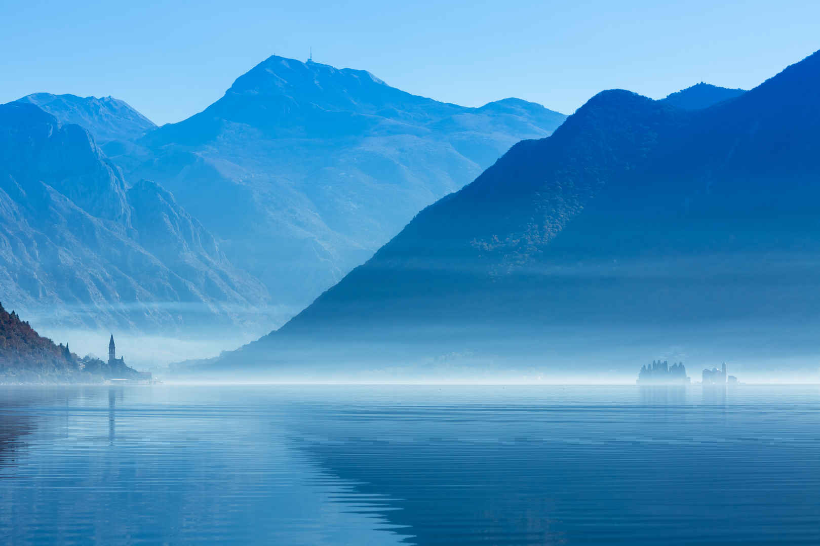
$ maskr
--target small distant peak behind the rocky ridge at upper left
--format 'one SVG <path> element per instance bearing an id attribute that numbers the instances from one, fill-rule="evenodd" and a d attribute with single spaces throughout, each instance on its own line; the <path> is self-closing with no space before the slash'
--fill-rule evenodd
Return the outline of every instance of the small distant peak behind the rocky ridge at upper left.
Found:
<path id="1" fill-rule="evenodd" d="M 57 118 L 61 125 L 80 125 L 101 145 L 110 140 L 137 139 L 157 127 L 125 102 L 113 97 L 77 97 L 32 93 L 18 102 L 30 102 Z"/>

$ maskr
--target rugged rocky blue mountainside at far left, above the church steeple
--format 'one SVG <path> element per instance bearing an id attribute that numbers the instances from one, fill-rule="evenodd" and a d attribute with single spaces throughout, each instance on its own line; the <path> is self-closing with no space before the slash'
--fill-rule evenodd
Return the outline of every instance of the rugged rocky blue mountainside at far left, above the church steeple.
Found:
<path id="1" fill-rule="evenodd" d="M 159 185 L 127 188 L 79 125 L 0 105 L 0 287 L 41 326 L 238 325 L 267 292 Z"/>

